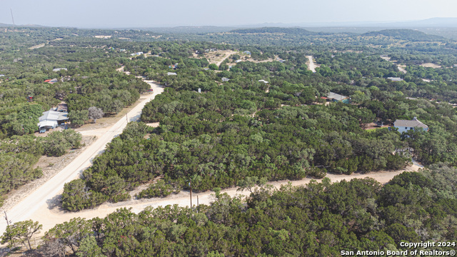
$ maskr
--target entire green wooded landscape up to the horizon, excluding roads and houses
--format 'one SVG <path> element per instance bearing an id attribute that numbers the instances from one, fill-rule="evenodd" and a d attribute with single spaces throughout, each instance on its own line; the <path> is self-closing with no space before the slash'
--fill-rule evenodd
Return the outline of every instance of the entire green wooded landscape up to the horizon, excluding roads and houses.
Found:
<path id="1" fill-rule="evenodd" d="M 41 176 L 40 156 L 81 147 L 72 129 L 34 136 L 44 111 L 64 101 L 73 129 L 89 122 L 92 107 L 114 116 L 148 91 L 141 78 L 163 85 L 164 93 L 81 178 L 65 184 L 61 207 L 76 212 L 128 201 L 139 186 L 146 189 L 135 198 L 187 191 L 189 182 L 195 192 L 215 192 L 209 206 L 122 208 L 106 218 L 73 219 L 47 231 L 30 254 L 339 256 L 456 238 L 457 45 L 451 39 L 411 30 L 4 30 L 1 196 Z M 307 56 L 318 64 L 315 73 Z M 53 71 L 58 68 L 64 69 Z M 44 82 L 49 79 L 56 83 Z M 350 101 L 331 101 L 331 92 Z M 428 131 L 393 128 L 394 121 L 413 118 Z M 325 179 L 399 171 L 413 159 L 426 168 L 384 186 L 368 178 Z M 306 177 L 324 179 L 280 190 L 264 183 Z M 220 192 L 246 184 L 259 186 L 246 199 Z M 21 242 L 8 233 L 2 243 Z"/>

